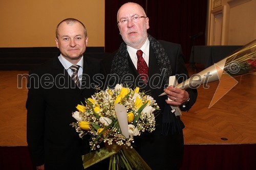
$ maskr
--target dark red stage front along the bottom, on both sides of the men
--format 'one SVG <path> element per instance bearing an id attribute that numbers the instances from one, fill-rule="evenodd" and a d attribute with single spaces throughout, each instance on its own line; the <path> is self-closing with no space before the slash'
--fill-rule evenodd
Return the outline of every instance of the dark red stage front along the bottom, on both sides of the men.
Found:
<path id="1" fill-rule="evenodd" d="M 256 144 L 185 144 L 180 170 L 256 169 L 255 153 Z M 34 170 L 27 146 L 0 147 L 0 169 Z"/>

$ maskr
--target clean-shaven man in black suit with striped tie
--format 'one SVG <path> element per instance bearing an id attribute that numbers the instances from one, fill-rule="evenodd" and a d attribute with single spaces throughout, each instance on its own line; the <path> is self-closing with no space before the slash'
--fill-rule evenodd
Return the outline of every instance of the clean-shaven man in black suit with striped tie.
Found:
<path id="1" fill-rule="evenodd" d="M 79 20 L 62 20 L 56 28 L 55 41 L 60 56 L 29 73 L 27 142 L 37 169 L 80 170 L 81 155 L 88 153 L 90 147 L 89 141 L 79 138 L 70 125 L 76 122 L 72 112 L 84 98 L 94 94 L 92 77 L 99 73 L 99 63 L 83 56 L 88 36 Z M 78 72 L 71 69 L 72 65 Z"/>

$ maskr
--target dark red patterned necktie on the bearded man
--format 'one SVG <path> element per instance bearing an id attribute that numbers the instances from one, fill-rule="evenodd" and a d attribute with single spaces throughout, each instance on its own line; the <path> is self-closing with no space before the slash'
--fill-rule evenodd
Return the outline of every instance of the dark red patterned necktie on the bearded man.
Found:
<path id="1" fill-rule="evenodd" d="M 142 54 L 143 54 L 143 52 L 141 50 L 138 50 L 136 53 L 136 55 L 138 57 L 137 70 L 138 70 L 139 74 L 141 75 L 142 79 L 144 81 L 147 81 L 147 76 L 143 76 L 143 75 L 148 75 L 148 67 L 147 67 L 145 60 L 142 57 Z"/>

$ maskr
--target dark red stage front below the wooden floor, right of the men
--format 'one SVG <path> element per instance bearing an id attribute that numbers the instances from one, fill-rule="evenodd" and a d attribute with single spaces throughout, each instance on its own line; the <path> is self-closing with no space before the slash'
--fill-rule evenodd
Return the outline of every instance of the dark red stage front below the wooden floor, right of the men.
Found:
<path id="1" fill-rule="evenodd" d="M 256 144 L 185 144 L 180 170 L 256 169 L 255 153 Z"/>

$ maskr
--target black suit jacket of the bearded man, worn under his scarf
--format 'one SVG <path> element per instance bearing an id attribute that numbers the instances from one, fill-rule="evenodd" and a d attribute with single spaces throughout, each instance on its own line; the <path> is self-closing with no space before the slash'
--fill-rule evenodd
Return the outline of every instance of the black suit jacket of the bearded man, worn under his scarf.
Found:
<path id="1" fill-rule="evenodd" d="M 179 44 L 162 40 L 159 40 L 159 42 L 162 44 L 167 56 L 169 57 L 172 65 L 172 76 L 176 75 L 178 82 L 183 82 L 184 79 L 182 77 L 188 78 L 188 72 L 184 65 L 184 56 L 182 54 L 181 46 Z M 116 53 L 117 52 L 111 54 L 105 60 L 102 60 L 101 72 L 104 75 L 110 74 L 112 61 Z M 147 86 L 144 87 L 143 90 L 150 90 L 150 94 L 157 101 L 160 109 L 163 110 L 167 96 L 158 96 L 163 92 L 164 82 L 161 79 L 153 80 L 154 75 L 160 75 L 161 72 L 159 72 L 159 66 L 151 47 L 149 57 L 148 79 L 150 82 L 147 83 Z M 137 77 L 139 75 L 138 71 L 133 65 L 130 57 L 128 60 L 129 73 Z M 159 85 L 159 82 L 162 82 L 160 86 L 156 86 L 156 84 Z M 138 82 L 134 81 L 133 85 L 138 86 Z M 186 107 L 180 107 L 183 111 L 188 110 L 196 102 L 197 98 L 196 89 L 186 89 L 186 91 L 189 93 L 190 101 L 186 104 Z M 180 119 L 179 116 L 177 118 Z M 177 132 L 174 135 L 168 134 L 167 136 L 163 136 L 161 134 L 161 130 L 162 113 L 159 113 L 156 116 L 156 130 L 152 133 L 143 133 L 141 136 L 139 136 L 139 139 L 135 142 L 135 149 L 152 169 L 176 169 L 179 167 L 182 161 L 183 134 L 182 132 Z"/>

